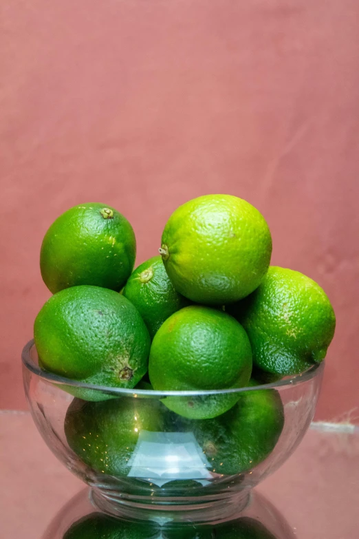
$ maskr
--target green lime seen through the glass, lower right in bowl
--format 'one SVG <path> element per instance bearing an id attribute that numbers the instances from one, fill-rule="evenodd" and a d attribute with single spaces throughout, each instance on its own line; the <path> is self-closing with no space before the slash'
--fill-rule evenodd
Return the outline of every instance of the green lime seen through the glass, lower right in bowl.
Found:
<path id="1" fill-rule="evenodd" d="M 183 420 L 184 421 L 184 420 Z M 188 427 L 217 474 L 241 474 L 267 458 L 281 435 L 284 412 L 276 390 L 240 392 L 226 414 Z"/>

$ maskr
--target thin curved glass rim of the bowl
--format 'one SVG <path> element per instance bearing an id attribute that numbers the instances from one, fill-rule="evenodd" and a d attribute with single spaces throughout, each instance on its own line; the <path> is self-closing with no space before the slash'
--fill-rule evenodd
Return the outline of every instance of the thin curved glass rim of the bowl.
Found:
<path id="1" fill-rule="evenodd" d="M 57 385 L 71 385 L 74 388 L 84 388 L 94 391 L 106 392 L 108 394 L 116 394 L 118 396 L 124 395 L 133 395 L 133 397 L 146 396 L 150 395 L 153 397 L 190 397 L 190 396 L 206 396 L 206 395 L 217 395 L 217 394 L 233 394 L 246 391 L 256 391 L 256 390 L 265 390 L 265 389 L 285 389 L 292 388 L 294 385 L 305 383 L 309 380 L 314 379 L 319 376 L 324 369 L 325 361 L 320 363 L 314 363 L 313 366 L 309 369 L 301 372 L 300 374 L 295 374 L 292 377 L 287 377 L 284 380 L 272 382 L 272 383 L 263 383 L 261 385 L 253 385 L 251 387 L 245 388 L 230 388 L 224 390 L 186 390 L 186 391 L 159 391 L 159 390 L 141 390 L 141 389 L 127 389 L 127 388 L 114 388 L 109 385 L 96 385 L 91 383 L 85 383 L 78 380 L 73 380 L 65 377 L 58 376 L 58 374 L 52 374 L 46 370 L 42 370 L 38 364 L 32 359 L 30 351 L 35 347 L 34 339 L 30 339 L 28 343 L 23 347 L 21 352 L 21 359 L 23 366 L 35 374 L 40 379 L 46 382 L 56 383 Z"/>

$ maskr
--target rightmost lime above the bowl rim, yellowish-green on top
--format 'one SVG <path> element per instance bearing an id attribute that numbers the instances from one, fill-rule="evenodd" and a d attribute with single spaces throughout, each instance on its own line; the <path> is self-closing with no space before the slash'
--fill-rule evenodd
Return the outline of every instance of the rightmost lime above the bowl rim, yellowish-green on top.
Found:
<path id="1" fill-rule="evenodd" d="M 281 375 L 298 374 L 323 361 L 336 325 L 323 288 L 303 273 L 276 266 L 228 312 L 248 333 L 254 365 Z"/>

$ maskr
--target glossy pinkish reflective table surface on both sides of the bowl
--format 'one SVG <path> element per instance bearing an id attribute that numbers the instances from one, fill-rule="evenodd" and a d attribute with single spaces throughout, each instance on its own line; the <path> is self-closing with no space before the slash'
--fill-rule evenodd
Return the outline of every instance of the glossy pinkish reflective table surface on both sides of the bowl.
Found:
<path id="1" fill-rule="evenodd" d="M 83 483 L 58 462 L 28 412 L 0 412 L 0 538 L 41 539 Z M 298 539 L 359 538 L 359 429 L 314 423 L 257 487 Z"/>

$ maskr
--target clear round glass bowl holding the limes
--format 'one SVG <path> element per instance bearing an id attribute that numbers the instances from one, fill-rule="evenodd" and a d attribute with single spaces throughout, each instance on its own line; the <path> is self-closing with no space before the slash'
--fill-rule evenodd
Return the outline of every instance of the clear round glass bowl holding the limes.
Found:
<path id="1" fill-rule="evenodd" d="M 91 487 L 96 506 L 122 518 L 178 522 L 231 518 L 248 505 L 251 489 L 302 440 L 324 369 L 320 363 L 295 377 L 238 390 L 160 392 L 45 372 L 34 341 L 22 359 L 36 427 L 57 458 Z M 228 402 L 237 403 L 213 419 L 171 411 L 184 403 L 213 410 Z"/>

